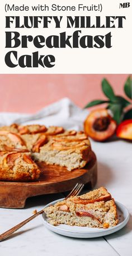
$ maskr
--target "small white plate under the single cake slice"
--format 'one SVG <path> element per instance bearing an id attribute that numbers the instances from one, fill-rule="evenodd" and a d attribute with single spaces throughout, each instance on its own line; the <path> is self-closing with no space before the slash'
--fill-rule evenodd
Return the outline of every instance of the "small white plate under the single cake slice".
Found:
<path id="1" fill-rule="evenodd" d="M 49 204 L 47 204 L 44 208 L 48 207 L 51 204 L 55 204 L 60 200 L 55 200 Z M 78 227 L 78 226 L 69 226 L 60 224 L 58 226 L 51 225 L 46 218 L 46 214 L 43 213 L 43 223 L 46 228 L 49 230 L 58 233 L 63 236 L 70 236 L 70 237 L 78 237 L 78 238 L 92 238 L 92 237 L 99 237 L 99 236 L 106 236 L 110 235 L 118 230 L 120 230 L 122 227 L 126 225 L 126 223 L 129 221 L 129 212 L 128 209 L 121 203 L 115 202 L 117 207 L 117 213 L 119 218 L 119 223 L 115 227 L 110 228 L 92 228 L 92 227 Z"/>

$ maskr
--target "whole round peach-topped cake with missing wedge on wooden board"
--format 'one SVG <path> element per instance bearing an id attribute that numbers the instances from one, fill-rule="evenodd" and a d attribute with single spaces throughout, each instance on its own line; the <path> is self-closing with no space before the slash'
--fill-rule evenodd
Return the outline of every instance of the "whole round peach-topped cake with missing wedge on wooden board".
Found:
<path id="1" fill-rule="evenodd" d="M 83 131 L 45 125 L 0 127 L 0 180 L 34 181 L 41 171 L 35 163 L 45 162 L 83 168 L 91 159 L 91 144 Z"/>

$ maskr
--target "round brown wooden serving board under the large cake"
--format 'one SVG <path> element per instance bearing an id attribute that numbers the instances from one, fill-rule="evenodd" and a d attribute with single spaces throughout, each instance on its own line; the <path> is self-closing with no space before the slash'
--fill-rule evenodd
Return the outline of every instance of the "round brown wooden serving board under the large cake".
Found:
<path id="1" fill-rule="evenodd" d="M 91 161 L 82 169 L 68 171 L 65 167 L 37 163 L 40 179 L 34 182 L 0 181 L 0 207 L 23 208 L 26 199 L 43 194 L 62 193 L 72 190 L 77 182 L 92 189 L 97 181 L 97 160 L 92 153 Z"/>

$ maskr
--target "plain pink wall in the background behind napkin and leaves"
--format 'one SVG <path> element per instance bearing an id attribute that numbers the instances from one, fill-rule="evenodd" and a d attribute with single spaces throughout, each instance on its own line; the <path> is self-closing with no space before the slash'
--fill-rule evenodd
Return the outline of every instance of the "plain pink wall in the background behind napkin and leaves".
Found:
<path id="1" fill-rule="evenodd" d="M 117 94 L 124 94 L 128 75 L 0 75 L 0 112 L 33 113 L 63 97 L 84 107 L 89 100 L 105 98 L 103 77 Z"/>

